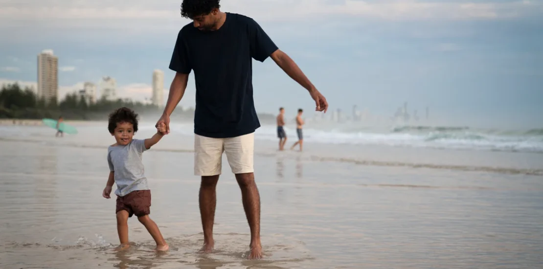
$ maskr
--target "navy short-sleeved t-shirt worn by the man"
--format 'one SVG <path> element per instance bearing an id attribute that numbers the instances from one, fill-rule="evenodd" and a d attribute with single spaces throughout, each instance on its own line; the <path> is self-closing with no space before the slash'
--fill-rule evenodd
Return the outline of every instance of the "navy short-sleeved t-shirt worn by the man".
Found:
<path id="1" fill-rule="evenodd" d="M 252 59 L 263 62 L 277 46 L 252 18 L 226 13 L 223 26 L 202 31 L 192 23 L 177 37 L 169 68 L 194 70 L 194 133 L 215 138 L 250 134 L 260 127 L 252 98 Z"/>

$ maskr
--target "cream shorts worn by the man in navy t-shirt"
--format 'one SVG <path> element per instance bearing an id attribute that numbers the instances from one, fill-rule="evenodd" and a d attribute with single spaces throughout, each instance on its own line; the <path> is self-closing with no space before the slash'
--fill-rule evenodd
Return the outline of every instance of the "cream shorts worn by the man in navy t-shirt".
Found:
<path id="1" fill-rule="evenodd" d="M 254 172 L 255 133 L 229 138 L 211 138 L 195 134 L 194 174 L 196 176 L 220 174 L 223 152 L 226 152 L 232 173 Z"/>

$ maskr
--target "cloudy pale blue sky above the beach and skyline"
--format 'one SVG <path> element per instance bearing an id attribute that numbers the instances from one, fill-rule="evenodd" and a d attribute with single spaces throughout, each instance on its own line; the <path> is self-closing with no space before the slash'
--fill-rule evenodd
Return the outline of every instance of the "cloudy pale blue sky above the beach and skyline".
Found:
<path id="1" fill-rule="evenodd" d="M 0 0 L 0 84 L 36 83 L 36 57 L 59 57 L 60 94 L 117 80 L 118 95 L 144 101 L 152 72 L 168 69 L 189 20 L 181 0 Z M 452 124 L 543 126 L 543 0 L 222 0 L 254 18 L 323 93 L 392 116 L 430 107 Z M 268 59 L 254 62 L 258 112 L 314 110 L 307 91 Z M 194 106 L 191 75 L 181 105 Z"/>

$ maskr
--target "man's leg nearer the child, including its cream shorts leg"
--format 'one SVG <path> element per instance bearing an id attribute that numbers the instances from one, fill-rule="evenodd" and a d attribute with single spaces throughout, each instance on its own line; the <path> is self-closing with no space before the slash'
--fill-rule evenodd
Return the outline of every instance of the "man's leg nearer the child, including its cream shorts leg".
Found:
<path id="1" fill-rule="evenodd" d="M 195 135 L 194 137 L 194 174 L 201 176 L 198 202 L 202 229 L 204 230 L 204 246 L 201 251 L 211 252 L 214 246 L 213 221 L 217 205 L 216 186 L 222 170 L 224 139 Z"/>

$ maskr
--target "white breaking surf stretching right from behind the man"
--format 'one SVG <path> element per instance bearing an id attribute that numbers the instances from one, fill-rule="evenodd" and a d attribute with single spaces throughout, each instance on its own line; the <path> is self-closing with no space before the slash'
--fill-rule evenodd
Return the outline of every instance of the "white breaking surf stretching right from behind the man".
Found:
<path id="1" fill-rule="evenodd" d="M 497 130 L 479 130 L 469 127 L 426 127 L 403 126 L 392 129 L 357 130 L 350 127 L 316 129 L 305 128 L 304 140 L 307 142 L 386 145 L 396 147 L 424 147 L 439 149 L 466 149 L 484 151 L 533 152 L 543 153 L 543 135 L 539 129 L 515 131 L 509 134 Z M 295 129 L 285 128 L 287 136 L 294 136 Z M 529 133 L 527 135 L 526 133 Z M 274 126 L 262 126 L 256 132 L 256 139 L 276 140 Z"/>

